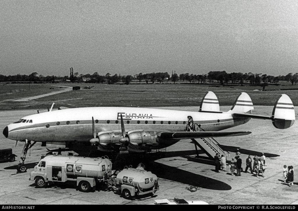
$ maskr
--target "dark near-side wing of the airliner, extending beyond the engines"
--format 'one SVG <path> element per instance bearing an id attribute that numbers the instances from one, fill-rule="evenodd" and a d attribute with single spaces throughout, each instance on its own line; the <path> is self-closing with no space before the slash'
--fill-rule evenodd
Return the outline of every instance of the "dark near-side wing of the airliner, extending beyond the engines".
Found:
<path id="1" fill-rule="evenodd" d="M 244 136 L 252 132 L 162 132 L 158 136 L 163 139 L 190 139 L 190 138 L 214 138 L 225 136 Z"/>

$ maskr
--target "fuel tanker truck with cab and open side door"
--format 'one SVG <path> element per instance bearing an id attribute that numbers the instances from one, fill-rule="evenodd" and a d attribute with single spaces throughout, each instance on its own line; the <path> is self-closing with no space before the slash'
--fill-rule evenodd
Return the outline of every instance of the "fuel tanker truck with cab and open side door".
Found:
<path id="1" fill-rule="evenodd" d="M 96 184 L 111 176 L 112 163 L 107 156 L 85 158 L 48 155 L 41 159 L 30 173 L 30 180 L 44 188 L 54 182 L 76 181 L 82 192 L 95 190 Z"/>

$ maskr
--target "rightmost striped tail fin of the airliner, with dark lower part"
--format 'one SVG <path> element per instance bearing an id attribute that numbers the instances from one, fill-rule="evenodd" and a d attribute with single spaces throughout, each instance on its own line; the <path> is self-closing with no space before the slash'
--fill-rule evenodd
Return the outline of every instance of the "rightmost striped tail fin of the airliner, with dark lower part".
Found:
<path id="1" fill-rule="evenodd" d="M 295 110 L 288 95 L 280 95 L 272 111 L 272 123 L 278 129 L 291 127 L 295 122 Z"/>

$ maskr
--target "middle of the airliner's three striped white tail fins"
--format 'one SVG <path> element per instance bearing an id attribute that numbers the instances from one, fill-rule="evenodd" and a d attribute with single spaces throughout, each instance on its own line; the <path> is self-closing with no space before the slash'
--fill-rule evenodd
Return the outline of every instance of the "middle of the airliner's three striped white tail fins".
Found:
<path id="1" fill-rule="evenodd" d="M 254 110 L 254 105 L 252 104 L 252 99 L 245 92 L 242 92 L 236 99 L 231 111 L 251 114 Z"/>

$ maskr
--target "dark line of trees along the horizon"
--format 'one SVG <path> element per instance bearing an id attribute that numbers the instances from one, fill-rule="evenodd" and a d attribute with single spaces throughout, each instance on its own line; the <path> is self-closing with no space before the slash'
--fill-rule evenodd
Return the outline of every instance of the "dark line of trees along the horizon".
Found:
<path id="1" fill-rule="evenodd" d="M 80 74 L 78 72 L 73 73 L 73 69 L 70 68 L 70 76 L 43 76 L 38 75 L 37 72 L 31 73 L 30 75 L 0 75 L 1 82 L 10 82 L 10 81 L 19 81 L 19 82 L 33 82 L 33 83 L 42 83 L 50 82 L 55 83 L 58 81 L 71 81 L 71 82 L 86 82 L 86 83 L 107 83 L 115 84 L 118 82 L 123 82 L 124 84 L 130 84 L 131 81 L 139 81 L 148 83 L 155 82 L 186 82 L 186 83 L 196 83 L 196 84 L 206 84 L 206 83 L 218 83 L 218 84 L 251 84 L 259 85 L 263 83 L 275 83 L 278 84 L 279 81 L 288 81 L 292 85 L 296 85 L 298 82 L 298 73 L 288 73 L 287 75 L 272 76 L 266 74 L 258 73 L 226 73 L 226 71 L 210 71 L 208 74 L 196 75 L 196 74 L 176 74 L 172 72 L 171 76 L 169 73 L 139 73 L 136 75 L 112 75 L 107 73 L 105 75 L 99 75 L 98 72 L 91 74 Z"/>

